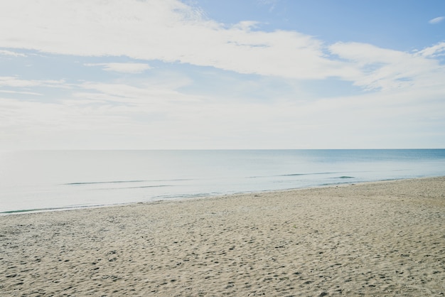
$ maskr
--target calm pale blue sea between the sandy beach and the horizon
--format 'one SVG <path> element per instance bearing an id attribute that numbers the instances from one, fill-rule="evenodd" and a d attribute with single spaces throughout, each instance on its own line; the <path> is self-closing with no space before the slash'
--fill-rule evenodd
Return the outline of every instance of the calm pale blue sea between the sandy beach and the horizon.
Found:
<path id="1" fill-rule="evenodd" d="M 0 153 L 0 212 L 445 175 L 445 149 Z"/>

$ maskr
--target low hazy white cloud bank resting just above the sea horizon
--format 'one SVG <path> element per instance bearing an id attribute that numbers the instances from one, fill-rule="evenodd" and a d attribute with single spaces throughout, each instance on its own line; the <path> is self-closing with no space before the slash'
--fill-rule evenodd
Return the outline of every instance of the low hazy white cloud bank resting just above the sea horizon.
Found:
<path id="1" fill-rule="evenodd" d="M 415 141 L 426 125 L 441 131 L 434 118 L 444 117 L 442 95 L 436 86 L 240 102 L 168 87 L 85 82 L 58 102 L 0 98 L 0 147 L 378 148 L 382 141 L 413 147 L 421 145 Z"/>

